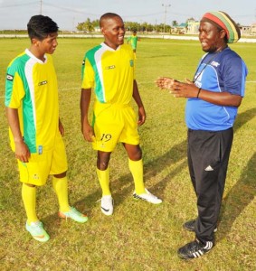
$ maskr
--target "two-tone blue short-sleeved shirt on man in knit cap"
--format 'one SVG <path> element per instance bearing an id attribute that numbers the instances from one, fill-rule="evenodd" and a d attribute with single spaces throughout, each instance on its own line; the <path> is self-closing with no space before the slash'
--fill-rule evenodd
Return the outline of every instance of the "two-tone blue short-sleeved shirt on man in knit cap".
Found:
<path id="1" fill-rule="evenodd" d="M 230 92 L 244 96 L 247 68 L 242 58 L 229 47 L 207 53 L 194 75 L 198 88 L 213 92 Z M 186 126 L 193 130 L 222 131 L 232 127 L 237 107 L 213 105 L 201 98 L 188 98 L 185 107 Z"/>

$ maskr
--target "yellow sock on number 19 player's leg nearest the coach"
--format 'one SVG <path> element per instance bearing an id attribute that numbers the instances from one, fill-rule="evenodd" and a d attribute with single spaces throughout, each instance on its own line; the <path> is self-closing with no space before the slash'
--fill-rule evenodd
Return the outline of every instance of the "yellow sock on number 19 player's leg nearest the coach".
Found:
<path id="1" fill-rule="evenodd" d="M 133 181 L 135 184 L 135 192 L 137 194 L 146 193 L 145 186 L 143 182 L 143 163 L 142 159 L 138 161 L 132 161 L 128 159 L 128 167 L 133 176 Z"/>

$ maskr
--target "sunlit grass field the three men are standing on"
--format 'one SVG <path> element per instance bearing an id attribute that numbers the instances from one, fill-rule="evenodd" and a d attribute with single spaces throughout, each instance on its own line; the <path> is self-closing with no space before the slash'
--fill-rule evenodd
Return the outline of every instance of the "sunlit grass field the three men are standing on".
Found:
<path id="1" fill-rule="evenodd" d="M 71 205 L 87 212 L 78 225 L 57 217 L 52 182 L 38 189 L 38 215 L 51 236 L 45 244 L 24 229 L 25 212 L 14 154 L 8 145 L 5 117 L 5 69 L 29 46 L 27 40 L 0 40 L 0 269 L 1 270 L 256 270 L 256 44 L 237 43 L 249 68 L 246 97 L 234 126 L 234 142 L 223 197 L 216 246 L 206 256 L 180 260 L 177 248 L 194 235 L 182 229 L 196 216 L 195 197 L 186 164 L 185 99 L 156 89 L 158 76 L 192 79 L 203 55 L 199 42 L 142 40 L 137 48 L 137 83 L 147 110 L 139 128 L 147 188 L 164 202 L 153 206 L 132 198 L 128 158 L 119 145 L 110 161 L 112 217 L 100 211 L 96 154 L 81 136 L 81 61 L 101 42 L 59 39 L 54 62 L 59 79 L 62 123 L 69 159 Z"/>

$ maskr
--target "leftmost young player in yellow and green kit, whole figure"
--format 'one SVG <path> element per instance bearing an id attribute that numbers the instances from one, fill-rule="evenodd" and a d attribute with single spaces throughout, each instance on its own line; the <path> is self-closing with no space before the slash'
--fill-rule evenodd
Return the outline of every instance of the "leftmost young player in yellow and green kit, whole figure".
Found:
<path id="1" fill-rule="evenodd" d="M 51 54 L 58 42 L 58 26 L 51 18 L 33 16 L 27 24 L 31 46 L 7 68 L 5 106 L 11 146 L 18 161 L 22 198 L 27 214 L 25 228 L 40 242 L 49 240 L 35 210 L 36 188 L 53 175 L 60 204 L 59 216 L 86 222 L 86 215 L 68 201 L 67 158 L 59 118 L 58 85 Z"/>

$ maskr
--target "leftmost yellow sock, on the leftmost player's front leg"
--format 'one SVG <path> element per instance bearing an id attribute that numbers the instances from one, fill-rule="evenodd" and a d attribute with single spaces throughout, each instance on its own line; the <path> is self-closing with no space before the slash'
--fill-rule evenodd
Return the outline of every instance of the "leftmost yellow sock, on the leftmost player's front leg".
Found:
<path id="1" fill-rule="evenodd" d="M 36 187 L 28 186 L 23 183 L 22 198 L 24 201 L 24 208 L 27 215 L 27 222 L 30 225 L 31 222 L 35 222 L 38 220 L 35 212 Z"/>

